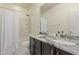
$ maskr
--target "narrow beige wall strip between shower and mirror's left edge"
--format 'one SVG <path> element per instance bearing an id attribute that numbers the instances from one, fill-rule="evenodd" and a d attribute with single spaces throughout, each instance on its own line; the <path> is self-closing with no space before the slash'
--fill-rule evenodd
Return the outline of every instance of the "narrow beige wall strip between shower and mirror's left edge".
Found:
<path id="1" fill-rule="evenodd" d="M 31 34 L 38 34 L 40 32 L 40 7 L 43 4 L 33 4 L 30 8 L 30 26 L 31 26 Z"/>

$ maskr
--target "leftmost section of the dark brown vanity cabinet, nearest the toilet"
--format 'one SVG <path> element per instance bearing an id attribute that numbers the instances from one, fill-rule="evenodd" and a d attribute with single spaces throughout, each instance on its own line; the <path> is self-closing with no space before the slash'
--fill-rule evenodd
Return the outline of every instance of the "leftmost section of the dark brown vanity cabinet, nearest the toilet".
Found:
<path id="1" fill-rule="evenodd" d="M 31 55 L 41 55 L 41 41 L 30 37 L 30 53 Z"/>

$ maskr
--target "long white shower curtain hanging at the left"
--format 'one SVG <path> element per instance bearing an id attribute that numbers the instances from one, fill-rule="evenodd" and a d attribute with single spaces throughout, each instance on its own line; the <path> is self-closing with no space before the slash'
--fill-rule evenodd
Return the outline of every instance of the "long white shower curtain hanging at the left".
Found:
<path id="1" fill-rule="evenodd" d="M 2 19 L 1 53 L 14 54 L 19 44 L 19 12 L 0 8 Z"/>

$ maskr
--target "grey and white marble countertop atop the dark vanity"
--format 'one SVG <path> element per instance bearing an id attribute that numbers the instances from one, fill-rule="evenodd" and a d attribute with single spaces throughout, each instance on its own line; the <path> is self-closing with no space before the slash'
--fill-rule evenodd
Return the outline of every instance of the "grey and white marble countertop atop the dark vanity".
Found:
<path id="1" fill-rule="evenodd" d="M 54 38 L 50 38 L 51 40 L 47 41 L 46 39 L 44 38 L 40 38 L 38 35 L 30 35 L 30 37 L 33 37 L 33 38 L 36 38 L 37 40 L 40 40 L 44 43 L 47 43 L 49 45 L 53 45 L 59 49 L 62 49 L 66 52 L 69 52 L 73 55 L 79 55 L 79 45 L 65 45 L 65 44 L 60 44 L 60 43 L 56 43 L 54 41 L 51 41 L 53 40 Z M 59 38 L 60 39 L 60 38 Z M 73 41 L 73 40 L 70 40 L 70 41 Z M 79 42 L 79 40 L 74 40 L 75 42 Z"/>

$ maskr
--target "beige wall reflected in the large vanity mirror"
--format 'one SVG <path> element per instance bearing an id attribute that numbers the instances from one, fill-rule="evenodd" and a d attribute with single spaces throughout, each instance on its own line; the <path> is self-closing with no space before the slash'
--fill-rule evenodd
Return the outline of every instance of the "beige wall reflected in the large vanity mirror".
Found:
<path id="1" fill-rule="evenodd" d="M 49 32 L 69 31 L 69 19 L 73 12 L 79 11 L 79 4 L 59 4 L 42 15 L 48 18 Z M 59 25 L 60 24 L 60 25 Z"/>

